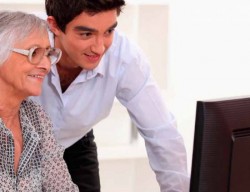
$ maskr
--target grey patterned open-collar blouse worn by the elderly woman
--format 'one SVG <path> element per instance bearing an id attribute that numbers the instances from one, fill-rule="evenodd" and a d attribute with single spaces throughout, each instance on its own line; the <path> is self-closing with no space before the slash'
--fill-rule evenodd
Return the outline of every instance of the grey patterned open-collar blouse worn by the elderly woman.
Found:
<path id="1" fill-rule="evenodd" d="M 20 108 L 23 151 L 14 171 L 14 141 L 0 118 L 0 192 L 75 192 L 63 160 L 63 148 L 52 136 L 52 124 L 40 105 L 25 100 Z"/>

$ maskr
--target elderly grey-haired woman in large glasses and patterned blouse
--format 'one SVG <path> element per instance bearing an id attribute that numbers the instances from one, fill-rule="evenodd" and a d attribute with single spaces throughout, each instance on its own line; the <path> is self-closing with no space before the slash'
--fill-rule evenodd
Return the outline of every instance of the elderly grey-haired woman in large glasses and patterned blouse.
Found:
<path id="1" fill-rule="evenodd" d="M 51 121 L 28 96 L 60 56 L 44 21 L 0 11 L 0 191 L 78 191 L 51 133 Z"/>

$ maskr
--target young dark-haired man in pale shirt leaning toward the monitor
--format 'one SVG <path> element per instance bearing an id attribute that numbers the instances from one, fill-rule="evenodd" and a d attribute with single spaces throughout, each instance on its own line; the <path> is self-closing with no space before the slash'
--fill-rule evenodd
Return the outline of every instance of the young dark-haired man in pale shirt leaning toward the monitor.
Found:
<path id="1" fill-rule="evenodd" d="M 162 192 L 188 191 L 186 152 L 140 50 L 115 31 L 124 0 L 46 0 L 51 44 L 62 50 L 36 98 L 54 123 L 65 161 L 84 192 L 99 192 L 92 127 L 115 97 L 145 140 Z M 108 131 L 108 130 L 107 130 Z"/>

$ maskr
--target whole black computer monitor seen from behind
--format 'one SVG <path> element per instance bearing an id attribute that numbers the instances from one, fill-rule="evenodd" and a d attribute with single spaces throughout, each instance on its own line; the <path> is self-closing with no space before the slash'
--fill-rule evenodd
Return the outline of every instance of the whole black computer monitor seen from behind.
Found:
<path id="1" fill-rule="evenodd" d="M 197 102 L 190 192 L 250 192 L 250 97 Z"/>

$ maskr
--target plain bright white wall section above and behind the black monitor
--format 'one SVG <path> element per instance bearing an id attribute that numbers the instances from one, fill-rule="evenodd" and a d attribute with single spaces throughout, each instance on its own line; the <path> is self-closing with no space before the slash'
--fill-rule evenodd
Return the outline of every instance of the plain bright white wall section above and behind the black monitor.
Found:
<path id="1" fill-rule="evenodd" d="M 250 95 L 250 1 L 171 0 L 168 92 L 191 166 L 197 100 Z"/>

